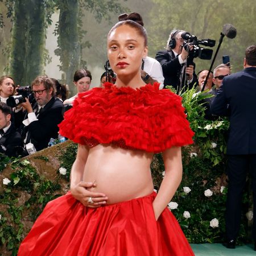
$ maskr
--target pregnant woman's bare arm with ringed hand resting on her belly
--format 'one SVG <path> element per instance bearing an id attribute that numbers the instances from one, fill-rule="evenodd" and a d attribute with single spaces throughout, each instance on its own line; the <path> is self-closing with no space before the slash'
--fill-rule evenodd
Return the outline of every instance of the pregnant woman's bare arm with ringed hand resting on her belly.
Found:
<path id="1" fill-rule="evenodd" d="M 79 144 L 76 160 L 71 169 L 71 194 L 86 207 L 100 207 L 106 204 L 108 197 L 104 193 L 90 192 L 86 188 L 96 187 L 96 183 L 82 181 L 84 167 L 88 158 L 89 150 L 86 146 Z M 94 204 L 88 203 L 88 198 L 92 197 Z"/>

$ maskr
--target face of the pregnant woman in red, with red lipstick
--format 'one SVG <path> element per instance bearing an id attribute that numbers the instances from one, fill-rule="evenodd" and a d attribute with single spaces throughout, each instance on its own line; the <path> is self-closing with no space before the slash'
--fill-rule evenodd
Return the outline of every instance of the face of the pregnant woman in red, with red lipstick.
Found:
<path id="1" fill-rule="evenodd" d="M 134 76 L 141 72 L 142 59 L 147 56 L 144 38 L 128 25 L 117 27 L 108 37 L 108 58 L 117 77 Z"/>

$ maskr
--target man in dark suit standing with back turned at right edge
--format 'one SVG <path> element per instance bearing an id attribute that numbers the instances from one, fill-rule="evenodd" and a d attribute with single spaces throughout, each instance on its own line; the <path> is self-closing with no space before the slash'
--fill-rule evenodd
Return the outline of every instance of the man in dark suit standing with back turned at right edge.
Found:
<path id="1" fill-rule="evenodd" d="M 224 77 L 211 106 L 213 114 L 230 116 L 225 244 L 228 248 L 236 245 L 247 170 L 253 178 L 253 212 L 256 215 L 256 46 L 246 49 L 243 67 L 243 71 Z M 256 241 L 255 218 L 253 237 Z"/>

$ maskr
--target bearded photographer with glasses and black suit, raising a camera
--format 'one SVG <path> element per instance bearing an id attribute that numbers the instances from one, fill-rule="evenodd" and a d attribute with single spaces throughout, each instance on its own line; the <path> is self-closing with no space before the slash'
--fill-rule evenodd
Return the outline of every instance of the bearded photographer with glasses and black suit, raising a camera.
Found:
<path id="1" fill-rule="evenodd" d="M 48 146 L 51 138 L 57 138 L 57 125 L 63 120 L 64 105 L 55 97 L 55 86 L 47 76 L 36 77 L 32 82 L 32 92 L 35 104 L 32 106 L 26 98 L 26 102 L 20 104 L 26 111 L 15 113 L 15 121 L 22 125 L 22 138 L 27 150 L 32 143 L 39 151 Z"/>

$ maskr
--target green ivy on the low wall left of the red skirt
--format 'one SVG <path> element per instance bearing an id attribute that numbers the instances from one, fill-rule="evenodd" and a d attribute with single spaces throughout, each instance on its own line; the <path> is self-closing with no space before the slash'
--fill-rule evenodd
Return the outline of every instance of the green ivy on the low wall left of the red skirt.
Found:
<path id="1" fill-rule="evenodd" d="M 44 156 L 41 159 L 48 160 Z M 14 171 L 0 195 L 1 209 L 6 209 L 0 212 L 0 246 L 16 255 L 24 238 L 24 217 L 35 221 L 48 201 L 59 196 L 60 175 L 48 180 L 26 159 L 16 159 L 10 165 Z"/>

